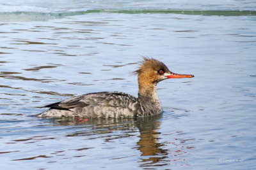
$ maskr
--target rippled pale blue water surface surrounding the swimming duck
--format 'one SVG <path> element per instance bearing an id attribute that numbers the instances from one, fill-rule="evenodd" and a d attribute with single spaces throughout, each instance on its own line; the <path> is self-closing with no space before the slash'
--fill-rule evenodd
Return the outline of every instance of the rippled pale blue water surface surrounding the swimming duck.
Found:
<path id="1" fill-rule="evenodd" d="M 255 15 L 12 9 L 0 13 L 1 169 L 255 169 Z M 141 55 L 195 75 L 159 83 L 162 115 L 33 117 L 89 92 L 137 96 Z"/>

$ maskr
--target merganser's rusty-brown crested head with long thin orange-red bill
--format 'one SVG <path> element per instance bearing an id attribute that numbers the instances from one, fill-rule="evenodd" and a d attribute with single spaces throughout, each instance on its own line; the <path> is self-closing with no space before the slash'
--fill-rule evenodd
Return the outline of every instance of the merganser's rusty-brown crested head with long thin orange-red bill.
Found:
<path id="1" fill-rule="evenodd" d="M 143 87 L 152 87 L 152 85 L 156 85 L 159 81 L 166 80 L 168 78 L 194 77 L 192 74 L 173 73 L 167 66 L 165 66 L 165 64 L 163 64 L 163 62 L 146 57 L 143 58 L 139 69 L 134 71 L 134 73 L 138 74 L 139 86 Z"/>

